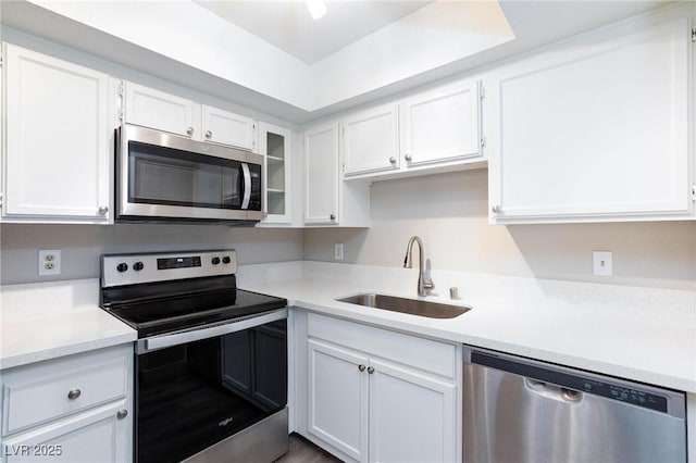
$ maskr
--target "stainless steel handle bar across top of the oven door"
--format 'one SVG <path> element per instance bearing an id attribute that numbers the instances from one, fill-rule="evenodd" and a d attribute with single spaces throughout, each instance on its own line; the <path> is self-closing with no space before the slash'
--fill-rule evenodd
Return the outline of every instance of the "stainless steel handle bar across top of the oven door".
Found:
<path id="1" fill-rule="evenodd" d="M 275 322 L 283 318 L 287 318 L 287 309 L 264 313 L 262 315 L 253 315 L 238 322 L 226 323 L 224 325 L 215 325 L 211 326 L 210 328 L 191 329 L 189 331 L 140 339 L 138 341 L 138 354 L 169 347 L 185 345 L 188 342 L 199 341 L 201 339 L 229 335 L 231 333 L 244 331 L 245 329 L 265 325 L 266 323 Z"/>

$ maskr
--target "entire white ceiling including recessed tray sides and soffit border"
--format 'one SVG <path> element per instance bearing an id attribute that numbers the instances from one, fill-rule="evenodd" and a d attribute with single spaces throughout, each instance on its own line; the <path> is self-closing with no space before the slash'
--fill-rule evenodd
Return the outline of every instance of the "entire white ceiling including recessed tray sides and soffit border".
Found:
<path id="1" fill-rule="evenodd" d="M 667 0 L 0 0 L 3 26 L 304 124 Z M 693 1 L 683 3 L 696 4 Z"/>

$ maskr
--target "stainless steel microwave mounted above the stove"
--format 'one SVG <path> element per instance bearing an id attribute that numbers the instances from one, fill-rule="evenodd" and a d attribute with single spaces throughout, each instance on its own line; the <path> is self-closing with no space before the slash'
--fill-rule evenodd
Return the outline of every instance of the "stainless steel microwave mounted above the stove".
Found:
<path id="1" fill-rule="evenodd" d="M 125 124 L 116 129 L 117 222 L 263 218 L 263 157 Z"/>

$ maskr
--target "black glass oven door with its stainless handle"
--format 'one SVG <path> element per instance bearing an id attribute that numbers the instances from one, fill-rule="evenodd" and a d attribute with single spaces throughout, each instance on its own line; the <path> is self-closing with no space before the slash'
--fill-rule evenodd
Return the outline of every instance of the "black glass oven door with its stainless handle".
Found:
<path id="1" fill-rule="evenodd" d="M 136 372 L 139 463 L 238 455 L 235 435 L 271 420 L 283 440 L 271 460 L 287 450 L 287 309 L 141 339 Z M 274 446 L 261 434 L 256 452 Z"/>

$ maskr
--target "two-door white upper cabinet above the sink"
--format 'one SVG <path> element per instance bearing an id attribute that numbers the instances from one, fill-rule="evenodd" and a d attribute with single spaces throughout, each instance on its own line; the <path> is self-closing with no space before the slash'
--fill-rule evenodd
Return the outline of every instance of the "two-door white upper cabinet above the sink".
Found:
<path id="1" fill-rule="evenodd" d="M 456 82 L 341 121 L 344 176 L 393 178 L 483 161 L 478 79 Z"/>

